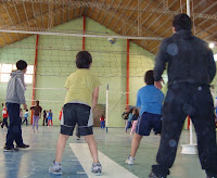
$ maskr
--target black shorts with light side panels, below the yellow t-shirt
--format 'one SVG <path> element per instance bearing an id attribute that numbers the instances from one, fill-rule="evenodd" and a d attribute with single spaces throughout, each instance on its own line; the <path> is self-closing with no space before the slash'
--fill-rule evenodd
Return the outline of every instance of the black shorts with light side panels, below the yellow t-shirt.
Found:
<path id="1" fill-rule="evenodd" d="M 73 136 L 76 124 L 80 136 L 92 135 L 92 111 L 86 104 L 67 103 L 63 107 L 61 134 Z"/>

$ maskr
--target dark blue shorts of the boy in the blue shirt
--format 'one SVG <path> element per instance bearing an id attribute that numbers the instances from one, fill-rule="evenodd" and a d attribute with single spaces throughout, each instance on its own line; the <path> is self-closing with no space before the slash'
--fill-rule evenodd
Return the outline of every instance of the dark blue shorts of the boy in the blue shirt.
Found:
<path id="1" fill-rule="evenodd" d="M 162 132 L 162 115 L 144 112 L 138 119 L 136 134 L 150 136 L 152 129 L 155 135 Z"/>

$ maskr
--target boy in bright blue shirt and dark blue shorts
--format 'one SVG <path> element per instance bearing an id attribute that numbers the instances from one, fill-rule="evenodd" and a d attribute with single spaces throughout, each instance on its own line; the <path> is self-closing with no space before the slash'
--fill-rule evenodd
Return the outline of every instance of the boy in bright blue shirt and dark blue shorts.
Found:
<path id="1" fill-rule="evenodd" d="M 163 92 L 154 86 L 153 71 L 144 75 L 146 86 L 137 93 L 137 107 L 140 109 L 136 134 L 131 142 L 131 153 L 126 160 L 127 164 L 135 164 L 135 156 L 143 136 L 150 136 L 153 129 L 155 135 L 162 131 L 162 103 Z"/>

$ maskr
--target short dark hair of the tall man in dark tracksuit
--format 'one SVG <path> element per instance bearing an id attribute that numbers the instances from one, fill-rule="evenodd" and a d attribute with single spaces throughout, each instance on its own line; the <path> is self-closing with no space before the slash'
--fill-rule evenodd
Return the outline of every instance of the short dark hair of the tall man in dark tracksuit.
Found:
<path id="1" fill-rule="evenodd" d="M 179 31 L 181 29 L 191 30 L 192 22 L 187 14 L 181 13 L 174 17 L 173 26 L 175 27 L 176 31 Z"/>

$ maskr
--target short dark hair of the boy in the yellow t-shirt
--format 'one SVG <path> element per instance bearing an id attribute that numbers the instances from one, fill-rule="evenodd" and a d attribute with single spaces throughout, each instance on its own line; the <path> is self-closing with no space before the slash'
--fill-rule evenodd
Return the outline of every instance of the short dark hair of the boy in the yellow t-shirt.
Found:
<path id="1" fill-rule="evenodd" d="M 80 51 L 76 55 L 76 66 L 78 68 L 89 68 L 92 63 L 92 56 L 88 51 Z"/>

